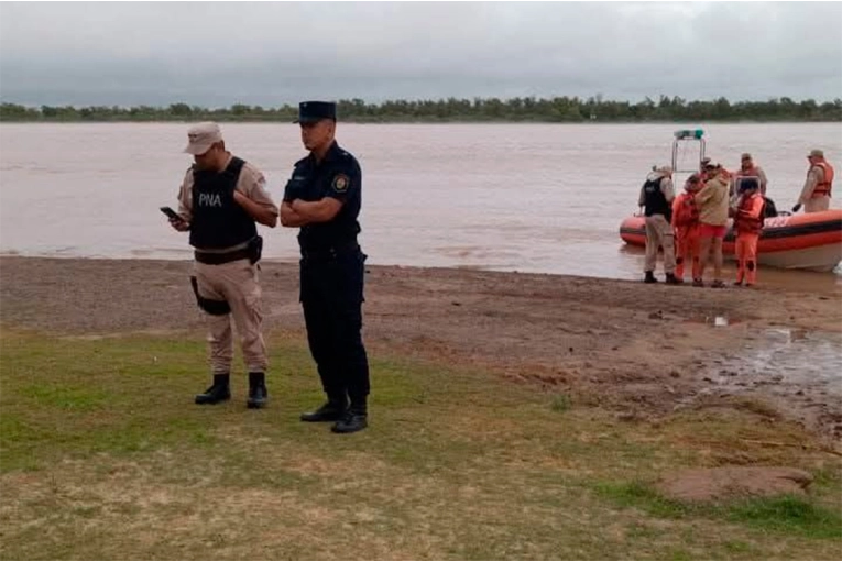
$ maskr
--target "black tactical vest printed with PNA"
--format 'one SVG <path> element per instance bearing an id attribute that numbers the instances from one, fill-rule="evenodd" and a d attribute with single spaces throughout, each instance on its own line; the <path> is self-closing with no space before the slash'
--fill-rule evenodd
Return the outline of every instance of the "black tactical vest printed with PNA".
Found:
<path id="1" fill-rule="evenodd" d="M 221 173 L 193 170 L 193 221 L 190 245 L 221 250 L 245 243 L 258 235 L 254 219 L 237 204 L 233 191 L 245 164 L 232 157 Z"/>

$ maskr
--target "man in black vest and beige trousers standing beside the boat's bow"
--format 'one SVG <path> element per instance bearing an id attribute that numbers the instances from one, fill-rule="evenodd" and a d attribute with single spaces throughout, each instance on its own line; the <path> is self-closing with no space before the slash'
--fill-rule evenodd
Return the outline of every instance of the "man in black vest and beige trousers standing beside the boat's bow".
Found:
<path id="1" fill-rule="evenodd" d="M 672 219 L 672 168 L 669 166 L 654 169 L 641 187 L 638 205 L 646 215 L 646 262 L 644 264 L 644 283 L 657 283 L 655 265 L 658 258 L 658 248 L 664 248 L 664 271 L 667 284 L 681 284 L 676 278 L 675 232 Z"/>

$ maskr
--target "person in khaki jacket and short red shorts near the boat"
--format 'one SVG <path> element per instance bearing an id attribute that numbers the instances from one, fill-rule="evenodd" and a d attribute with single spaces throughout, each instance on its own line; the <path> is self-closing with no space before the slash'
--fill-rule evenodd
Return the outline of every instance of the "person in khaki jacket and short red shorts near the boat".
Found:
<path id="1" fill-rule="evenodd" d="M 713 288 L 725 286 L 722 280 L 722 242 L 728 231 L 730 174 L 719 164 L 704 166 L 708 178 L 704 187 L 696 194 L 699 208 L 699 277 L 693 278 L 693 286 L 704 286 L 702 280 L 708 258 L 713 253 Z"/>

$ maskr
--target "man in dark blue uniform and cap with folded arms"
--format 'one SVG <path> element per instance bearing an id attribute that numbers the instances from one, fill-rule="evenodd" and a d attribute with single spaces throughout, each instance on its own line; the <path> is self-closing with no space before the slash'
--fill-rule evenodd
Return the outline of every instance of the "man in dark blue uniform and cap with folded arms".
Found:
<path id="1" fill-rule="evenodd" d="M 300 300 L 327 394 L 327 403 L 302 420 L 335 421 L 333 432 L 357 432 L 368 426 L 369 395 L 361 336 L 365 255 L 357 243 L 362 173 L 357 158 L 336 143 L 336 103 L 305 101 L 296 122 L 310 153 L 295 163 L 281 223 L 300 228 Z"/>

